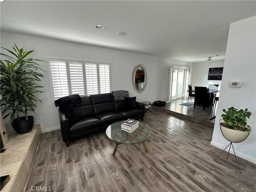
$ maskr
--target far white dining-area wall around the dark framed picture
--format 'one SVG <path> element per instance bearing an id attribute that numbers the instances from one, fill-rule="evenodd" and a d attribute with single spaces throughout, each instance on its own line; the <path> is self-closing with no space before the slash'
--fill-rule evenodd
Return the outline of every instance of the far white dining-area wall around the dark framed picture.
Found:
<path id="1" fill-rule="evenodd" d="M 192 81 L 191 81 L 193 89 L 195 86 L 208 87 L 209 84 L 219 84 L 218 89 L 220 90 L 220 86 L 221 86 L 220 80 L 216 81 L 216 80 L 207 80 L 207 79 L 208 79 L 209 68 L 223 67 L 223 66 L 224 66 L 224 60 L 216 60 L 214 62 L 207 63 L 207 64 L 205 62 L 193 63 Z"/>

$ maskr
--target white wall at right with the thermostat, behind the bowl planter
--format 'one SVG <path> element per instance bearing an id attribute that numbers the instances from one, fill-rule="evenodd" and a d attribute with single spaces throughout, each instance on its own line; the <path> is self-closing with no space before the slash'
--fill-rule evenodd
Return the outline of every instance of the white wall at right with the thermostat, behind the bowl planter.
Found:
<path id="1" fill-rule="evenodd" d="M 246 140 L 234 143 L 236 155 L 256 164 L 256 16 L 230 24 L 228 44 L 220 100 L 216 114 L 216 124 L 211 144 L 224 149 L 228 141 L 222 136 L 218 121 L 222 109 L 234 106 L 238 109 L 248 108 L 252 112 L 248 125 L 252 132 Z M 241 88 L 231 88 L 230 81 L 241 81 Z"/>

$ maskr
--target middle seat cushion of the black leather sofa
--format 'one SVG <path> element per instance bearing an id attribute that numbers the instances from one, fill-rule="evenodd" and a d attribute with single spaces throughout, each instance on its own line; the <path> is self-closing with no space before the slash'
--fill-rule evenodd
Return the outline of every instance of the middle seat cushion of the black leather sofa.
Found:
<path id="1" fill-rule="evenodd" d="M 114 122 L 124 120 L 125 116 L 117 112 L 106 112 L 96 115 L 101 120 L 101 126 L 110 125 Z"/>

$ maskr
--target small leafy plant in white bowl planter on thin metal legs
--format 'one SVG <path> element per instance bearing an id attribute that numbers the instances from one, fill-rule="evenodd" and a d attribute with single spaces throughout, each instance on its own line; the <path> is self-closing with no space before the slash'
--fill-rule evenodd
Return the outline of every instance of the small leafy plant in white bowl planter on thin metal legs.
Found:
<path id="1" fill-rule="evenodd" d="M 238 110 L 234 107 L 223 109 L 223 112 L 221 120 L 224 122 L 220 122 L 220 130 L 224 138 L 232 143 L 245 140 L 252 130 L 247 124 L 247 118 L 249 119 L 252 113 L 247 108 Z"/>

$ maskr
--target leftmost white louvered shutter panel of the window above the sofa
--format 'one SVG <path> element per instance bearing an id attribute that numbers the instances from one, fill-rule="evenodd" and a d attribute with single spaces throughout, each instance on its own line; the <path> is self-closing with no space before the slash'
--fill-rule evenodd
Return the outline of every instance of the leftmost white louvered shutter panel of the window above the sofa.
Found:
<path id="1" fill-rule="evenodd" d="M 66 62 L 50 61 L 52 73 L 52 84 L 54 91 L 54 99 L 68 96 L 68 78 L 66 72 Z"/>

